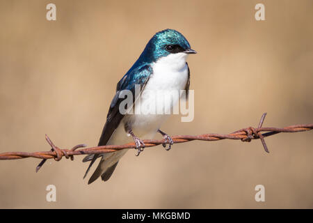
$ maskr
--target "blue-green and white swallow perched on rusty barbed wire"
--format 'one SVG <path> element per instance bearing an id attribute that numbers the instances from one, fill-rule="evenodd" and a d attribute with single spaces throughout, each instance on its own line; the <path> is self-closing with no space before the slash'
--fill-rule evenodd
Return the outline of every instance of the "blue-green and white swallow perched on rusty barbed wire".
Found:
<path id="1" fill-rule="evenodd" d="M 120 79 L 116 86 L 116 92 L 106 116 L 106 123 L 102 130 L 98 146 L 127 144 L 134 141 L 136 144 L 136 155 L 139 155 L 145 144 L 142 139 L 152 139 L 155 134 L 160 133 L 169 150 L 173 144 L 172 138 L 160 130 L 161 124 L 168 118 L 168 109 L 177 104 L 177 98 L 166 98 L 170 100 L 170 107 L 166 107 L 166 101 L 157 101 L 157 98 L 166 96 L 168 91 L 185 90 L 188 95 L 190 85 L 190 70 L 186 59 L 189 54 L 196 54 L 191 49 L 188 40 L 175 29 L 164 29 L 157 32 L 149 40 L 143 52 L 127 73 Z M 135 93 L 136 86 L 140 86 L 139 95 Z M 124 98 L 121 93 L 130 91 L 133 104 L 125 107 L 128 112 L 120 112 L 120 105 Z M 161 93 L 160 93 L 161 92 Z M 141 98 L 145 93 L 148 97 Z M 158 93 L 158 95 L 157 95 Z M 141 104 L 136 100 L 141 98 Z M 129 112 L 131 107 L 147 106 L 155 103 L 161 107 L 163 114 L 141 114 Z M 166 110 L 166 111 L 165 111 Z M 97 158 L 101 157 L 95 172 L 88 180 L 93 183 L 101 176 L 103 181 L 109 180 L 120 158 L 125 155 L 129 148 L 112 153 L 90 154 L 83 158 L 83 162 L 89 162 L 85 178 Z"/>

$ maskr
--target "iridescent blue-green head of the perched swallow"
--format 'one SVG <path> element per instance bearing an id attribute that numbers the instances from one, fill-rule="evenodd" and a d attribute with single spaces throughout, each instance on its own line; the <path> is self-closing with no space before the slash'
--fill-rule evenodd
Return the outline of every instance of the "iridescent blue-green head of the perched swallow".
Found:
<path id="1" fill-rule="evenodd" d="M 156 33 L 145 46 L 138 61 L 152 63 L 170 54 L 195 54 L 186 38 L 174 29 L 165 29 Z"/>

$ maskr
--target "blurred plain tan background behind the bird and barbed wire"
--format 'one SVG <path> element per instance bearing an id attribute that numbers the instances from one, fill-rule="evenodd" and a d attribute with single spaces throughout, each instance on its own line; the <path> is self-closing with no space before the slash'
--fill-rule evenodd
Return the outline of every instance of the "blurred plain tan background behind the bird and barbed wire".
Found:
<path id="1" fill-rule="evenodd" d="M 195 118 L 169 134 L 229 133 L 313 121 L 313 1 L 0 1 L 0 152 L 96 146 L 115 86 L 162 29 L 189 56 Z M 47 21 L 47 3 L 56 21 Z M 255 20 L 264 3 L 266 21 Z M 313 208 L 313 132 L 129 151 L 87 185 L 83 156 L 0 161 L 0 208 Z M 47 202 L 47 185 L 57 201 Z M 255 201 L 264 185 L 265 202 Z"/>

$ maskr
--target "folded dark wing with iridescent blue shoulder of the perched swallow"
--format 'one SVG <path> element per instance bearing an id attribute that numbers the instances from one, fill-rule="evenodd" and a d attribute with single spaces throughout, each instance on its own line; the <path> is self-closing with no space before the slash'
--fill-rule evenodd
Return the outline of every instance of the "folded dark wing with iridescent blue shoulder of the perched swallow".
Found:
<path id="1" fill-rule="evenodd" d="M 135 63 L 136 65 L 136 63 Z M 109 141 L 111 135 L 115 131 L 116 128 L 118 128 L 118 125 L 120 125 L 120 121 L 125 116 L 125 114 L 121 114 L 119 107 L 120 102 L 124 100 L 123 98 L 119 98 L 120 92 L 123 90 L 129 90 L 133 93 L 133 102 L 135 102 L 135 86 L 136 84 L 141 85 L 141 91 L 143 91 L 145 84 L 147 84 L 147 81 L 149 80 L 150 75 L 152 75 L 152 68 L 151 66 L 147 64 L 143 64 L 141 66 L 138 66 L 134 68 L 134 66 L 120 79 L 120 82 L 118 82 L 116 86 L 116 93 L 115 96 L 111 102 L 109 112 L 106 116 L 106 123 L 104 125 L 104 128 L 102 130 L 101 137 L 99 139 L 98 146 L 105 146 L 106 143 Z M 83 178 L 86 177 L 88 174 L 88 171 L 90 167 L 93 165 L 95 160 L 97 160 L 97 157 L 99 157 L 98 154 L 91 154 L 87 155 L 83 162 L 90 161 L 89 167 L 86 171 L 86 174 Z"/>

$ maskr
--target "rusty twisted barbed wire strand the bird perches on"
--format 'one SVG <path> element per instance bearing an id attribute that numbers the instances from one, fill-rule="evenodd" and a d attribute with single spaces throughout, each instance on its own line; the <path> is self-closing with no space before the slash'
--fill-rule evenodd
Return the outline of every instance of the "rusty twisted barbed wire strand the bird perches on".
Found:
<path id="1" fill-rule="evenodd" d="M 313 129 L 313 124 L 306 125 L 290 125 L 284 128 L 275 128 L 275 127 L 262 127 L 264 123 L 264 118 L 266 113 L 262 115 L 261 120 L 259 121 L 259 125 L 257 128 L 242 128 L 241 130 L 237 130 L 230 134 L 199 134 L 199 135 L 175 135 L 172 136 L 172 140 L 174 144 L 184 143 L 187 141 L 200 140 L 200 141 L 218 141 L 222 139 L 240 139 L 241 141 L 251 141 L 252 139 L 260 139 L 262 141 L 262 145 L 264 147 L 264 151 L 269 153 L 268 147 L 266 146 L 265 137 L 269 137 L 273 134 L 278 134 L 280 132 L 304 132 L 307 130 Z M 264 133 L 262 133 L 264 132 Z M 129 143 L 124 145 L 107 145 L 107 146 L 95 146 L 90 148 L 86 147 L 85 144 L 79 144 L 74 146 L 71 149 L 61 149 L 58 146 L 55 146 L 54 143 L 49 139 L 46 134 L 46 140 L 48 144 L 51 146 L 50 151 L 43 152 L 33 152 L 33 153 L 25 153 L 25 152 L 8 152 L 8 153 L 0 153 L 0 160 L 16 160 L 23 159 L 27 157 L 33 157 L 38 159 L 43 159 L 38 167 L 36 167 L 36 171 L 42 167 L 47 159 L 54 159 L 56 161 L 60 161 L 63 156 L 67 159 L 70 158 L 74 160 L 74 155 L 86 155 L 86 154 L 96 154 L 96 153 L 112 153 L 124 148 L 136 148 L 136 144 Z M 165 144 L 165 139 L 161 140 L 153 140 L 146 139 L 143 140 L 145 143 L 145 148 L 158 146 L 160 144 Z M 80 148 L 80 149 L 79 149 Z"/>

